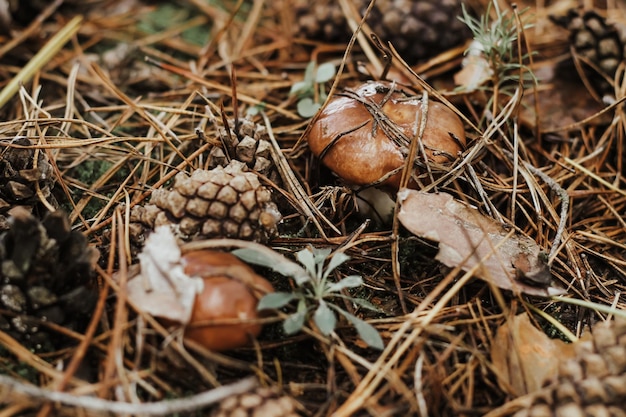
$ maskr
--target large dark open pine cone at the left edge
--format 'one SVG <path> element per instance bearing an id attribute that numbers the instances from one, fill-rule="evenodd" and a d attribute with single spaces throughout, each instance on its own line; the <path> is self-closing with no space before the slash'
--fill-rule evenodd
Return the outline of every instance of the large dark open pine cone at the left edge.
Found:
<path id="1" fill-rule="evenodd" d="M 82 330 L 97 297 L 97 251 L 58 210 L 41 222 L 22 207 L 10 214 L 0 234 L 0 329 L 30 348 L 58 349 L 41 323 Z"/>

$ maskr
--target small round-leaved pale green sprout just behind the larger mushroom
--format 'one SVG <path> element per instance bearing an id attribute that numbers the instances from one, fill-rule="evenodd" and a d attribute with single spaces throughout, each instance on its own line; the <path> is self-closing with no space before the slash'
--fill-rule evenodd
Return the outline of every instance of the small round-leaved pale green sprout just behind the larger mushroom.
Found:
<path id="1" fill-rule="evenodd" d="M 326 62 L 319 67 L 315 61 L 309 62 L 304 71 L 304 80 L 298 81 L 291 86 L 289 95 L 298 97 L 298 114 L 302 117 L 313 117 L 322 107 L 327 94 L 324 83 L 330 81 L 336 74 L 335 65 Z M 316 96 L 315 86 L 319 86 Z"/>

